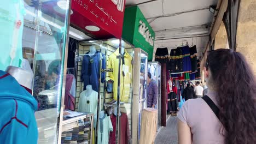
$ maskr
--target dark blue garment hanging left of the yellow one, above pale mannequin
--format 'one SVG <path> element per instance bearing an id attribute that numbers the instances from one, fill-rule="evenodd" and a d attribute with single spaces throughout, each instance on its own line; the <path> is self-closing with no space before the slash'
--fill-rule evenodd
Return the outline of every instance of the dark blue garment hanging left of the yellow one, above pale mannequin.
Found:
<path id="1" fill-rule="evenodd" d="M 82 82 L 84 82 L 84 90 L 86 90 L 87 85 L 92 85 L 92 89 L 98 92 L 98 88 L 100 86 L 99 82 L 100 81 L 104 82 L 105 80 L 105 73 L 101 73 L 101 80 L 100 80 L 99 70 L 100 70 L 101 57 L 103 57 L 102 63 L 101 63 L 101 69 L 106 68 L 106 58 L 100 51 L 96 51 L 94 55 L 90 55 L 89 52 L 87 52 L 83 57 L 81 80 Z"/>

